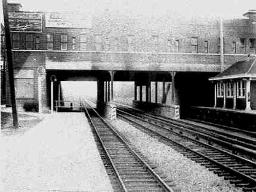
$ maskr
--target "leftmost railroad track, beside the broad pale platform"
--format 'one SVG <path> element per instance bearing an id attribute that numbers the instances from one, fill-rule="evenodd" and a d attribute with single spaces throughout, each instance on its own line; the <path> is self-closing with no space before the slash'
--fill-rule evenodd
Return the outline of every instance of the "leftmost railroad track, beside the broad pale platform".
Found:
<path id="1" fill-rule="evenodd" d="M 111 173 L 110 180 L 115 180 L 112 182 L 115 191 L 178 190 L 162 172 L 154 171 L 155 167 L 143 159 L 88 103 L 83 103 L 83 106 L 97 135 L 101 158 L 104 158 L 104 165 Z"/>

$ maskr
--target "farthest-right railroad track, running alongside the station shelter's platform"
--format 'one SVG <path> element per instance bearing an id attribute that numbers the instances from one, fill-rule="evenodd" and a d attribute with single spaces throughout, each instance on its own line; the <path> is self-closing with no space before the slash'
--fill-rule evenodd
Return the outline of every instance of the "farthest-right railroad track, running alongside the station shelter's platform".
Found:
<path id="1" fill-rule="evenodd" d="M 138 109 L 119 105 L 118 103 L 115 103 L 115 105 L 117 106 L 117 111 L 120 113 L 128 112 L 129 114 L 134 114 L 146 121 L 155 122 L 155 124 L 163 127 L 172 128 L 173 131 L 187 132 L 195 138 L 202 138 L 211 143 L 219 144 L 234 153 L 239 152 L 241 155 L 246 156 L 246 158 L 256 159 L 256 138 L 253 136 L 247 137 L 245 135 L 241 136 L 238 134 L 227 133 L 226 131 L 206 128 L 189 122 L 158 117 L 149 112 L 143 112 Z"/>

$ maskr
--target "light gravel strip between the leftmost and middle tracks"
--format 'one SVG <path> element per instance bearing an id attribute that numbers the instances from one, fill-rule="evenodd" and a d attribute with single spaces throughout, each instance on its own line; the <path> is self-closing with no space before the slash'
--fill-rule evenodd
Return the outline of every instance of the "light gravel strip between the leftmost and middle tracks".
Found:
<path id="1" fill-rule="evenodd" d="M 150 162 L 175 182 L 182 192 L 242 192 L 205 167 L 120 119 L 111 122 Z"/>

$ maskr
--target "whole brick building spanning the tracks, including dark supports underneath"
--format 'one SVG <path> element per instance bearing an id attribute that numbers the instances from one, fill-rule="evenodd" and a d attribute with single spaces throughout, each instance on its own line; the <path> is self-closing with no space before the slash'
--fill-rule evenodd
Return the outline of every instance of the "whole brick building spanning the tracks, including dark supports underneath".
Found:
<path id="1" fill-rule="evenodd" d="M 109 10 L 98 15 L 21 11 L 20 4 L 8 5 L 20 108 L 38 102 L 49 109 L 53 75 L 57 82 L 70 75 L 95 77 L 103 101 L 109 97 L 109 82 L 118 80 L 135 81 L 134 100 L 139 103 L 214 106 L 214 84 L 208 78 L 248 59 L 248 54 L 256 56 L 255 10 L 244 18 L 217 20 L 128 17 Z M 7 70 L 5 77 L 10 106 Z M 60 84 L 54 84 L 57 100 Z"/>

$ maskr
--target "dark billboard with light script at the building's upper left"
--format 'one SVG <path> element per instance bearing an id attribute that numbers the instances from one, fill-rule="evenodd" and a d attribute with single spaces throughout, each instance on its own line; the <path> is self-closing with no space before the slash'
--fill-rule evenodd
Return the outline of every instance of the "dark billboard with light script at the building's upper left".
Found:
<path id="1" fill-rule="evenodd" d="M 9 12 L 11 32 L 42 32 L 42 14 L 32 12 Z"/>

